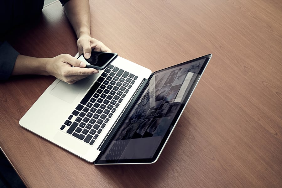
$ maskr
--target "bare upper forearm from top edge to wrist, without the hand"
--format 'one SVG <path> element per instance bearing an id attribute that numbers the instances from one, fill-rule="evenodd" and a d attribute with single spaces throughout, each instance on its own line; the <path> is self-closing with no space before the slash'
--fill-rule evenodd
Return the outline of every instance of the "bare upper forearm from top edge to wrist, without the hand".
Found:
<path id="1" fill-rule="evenodd" d="M 77 38 L 90 35 L 90 8 L 88 0 L 70 0 L 65 5 L 65 13 L 76 32 Z"/>

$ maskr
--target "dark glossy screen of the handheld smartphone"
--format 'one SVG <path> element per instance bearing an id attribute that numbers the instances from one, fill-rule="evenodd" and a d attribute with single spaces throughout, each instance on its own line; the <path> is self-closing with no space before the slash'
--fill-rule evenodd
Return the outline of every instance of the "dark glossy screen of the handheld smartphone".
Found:
<path id="1" fill-rule="evenodd" d="M 103 67 L 108 61 L 112 60 L 115 53 L 92 51 L 89 59 L 85 59 L 90 65 L 95 67 Z"/>

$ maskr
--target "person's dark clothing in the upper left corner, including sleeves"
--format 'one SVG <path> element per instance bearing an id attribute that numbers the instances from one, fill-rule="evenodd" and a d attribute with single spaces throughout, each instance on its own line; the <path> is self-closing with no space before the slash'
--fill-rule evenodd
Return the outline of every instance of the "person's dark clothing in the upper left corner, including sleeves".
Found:
<path id="1" fill-rule="evenodd" d="M 64 6 L 69 0 L 60 0 Z M 41 13 L 44 0 L 1 0 L 0 1 L 0 80 L 11 75 L 19 53 L 5 41 L 7 33 Z"/>

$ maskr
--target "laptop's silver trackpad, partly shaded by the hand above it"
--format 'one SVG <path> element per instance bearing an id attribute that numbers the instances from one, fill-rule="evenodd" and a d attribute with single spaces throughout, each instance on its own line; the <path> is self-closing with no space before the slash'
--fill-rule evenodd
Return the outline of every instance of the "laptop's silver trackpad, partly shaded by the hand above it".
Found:
<path id="1" fill-rule="evenodd" d="M 68 84 L 60 80 L 59 83 L 52 89 L 50 94 L 65 102 L 71 103 L 81 90 L 85 90 L 85 85 L 88 81 L 88 78 L 84 78 L 76 81 L 74 84 Z"/>

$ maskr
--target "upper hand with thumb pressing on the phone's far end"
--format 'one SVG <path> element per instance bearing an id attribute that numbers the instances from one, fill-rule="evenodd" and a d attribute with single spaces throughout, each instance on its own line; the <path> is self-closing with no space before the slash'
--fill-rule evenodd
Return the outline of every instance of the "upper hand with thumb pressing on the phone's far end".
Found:
<path id="1" fill-rule="evenodd" d="M 101 41 L 90 37 L 89 35 L 81 36 L 77 42 L 78 53 L 84 55 L 86 59 L 90 58 L 91 50 L 100 52 L 112 52 L 104 43 Z"/>

